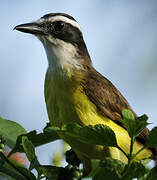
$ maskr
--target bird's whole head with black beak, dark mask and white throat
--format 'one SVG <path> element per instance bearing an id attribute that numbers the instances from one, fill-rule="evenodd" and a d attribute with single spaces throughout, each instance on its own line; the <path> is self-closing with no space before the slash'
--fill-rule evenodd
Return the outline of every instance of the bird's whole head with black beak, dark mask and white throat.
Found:
<path id="1" fill-rule="evenodd" d="M 49 65 L 82 68 L 90 57 L 77 21 L 64 13 L 50 13 L 14 29 L 37 36 L 43 43 Z"/>

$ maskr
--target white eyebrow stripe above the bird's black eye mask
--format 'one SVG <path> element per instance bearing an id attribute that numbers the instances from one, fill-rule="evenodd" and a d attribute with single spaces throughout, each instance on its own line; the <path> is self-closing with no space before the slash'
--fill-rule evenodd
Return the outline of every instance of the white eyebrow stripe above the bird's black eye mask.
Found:
<path id="1" fill-rule="evenodd" d="M 51 22 L 54 22 L 54 21 L 63 21 L 65 23 L 69 23 L 69 24 L 71 24 L 72 26 L 78 28 L 81 31 L 80 25 L 76 21 L 74 21 L 72 19 L 69 19 L 67 17 L 64 17 L 64 16 L 52 16 L 52 17 L 49 18 L 49 20 Z"/>

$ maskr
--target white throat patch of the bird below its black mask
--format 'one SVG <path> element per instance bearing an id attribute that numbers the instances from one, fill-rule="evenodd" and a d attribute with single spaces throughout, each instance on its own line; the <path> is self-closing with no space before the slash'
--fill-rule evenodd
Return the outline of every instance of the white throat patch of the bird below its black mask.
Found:
<path id="1" fill-rule="evenodd" d="M 70 71 L 72 68 L 82 68 L 81 57 L 74 45 L 54 38 L 41 40 L 47 54 L 49 68 L 52 71 L 58 69 Z"/>

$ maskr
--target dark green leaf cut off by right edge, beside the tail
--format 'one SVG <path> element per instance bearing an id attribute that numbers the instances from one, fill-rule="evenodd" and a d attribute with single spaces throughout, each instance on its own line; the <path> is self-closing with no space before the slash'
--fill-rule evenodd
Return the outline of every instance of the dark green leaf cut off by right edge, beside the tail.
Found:
<path id="1" fill-rule="evenodd" d="M 150 132 L 145 142 L 145 147 L 157 147 L 157 127 L 154 127 Z"/>

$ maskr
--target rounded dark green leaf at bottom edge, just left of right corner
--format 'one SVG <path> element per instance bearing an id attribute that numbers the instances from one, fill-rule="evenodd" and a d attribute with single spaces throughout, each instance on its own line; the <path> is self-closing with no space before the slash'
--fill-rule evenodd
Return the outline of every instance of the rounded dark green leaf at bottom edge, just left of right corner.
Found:
<path id="1" fill-rule="evenodd" d="M 132 162 L 125 166 L 122 180 L 132 180 L 133 178 L 143 177 L 147 173 L 147 169 L 140 162 Z"/>

